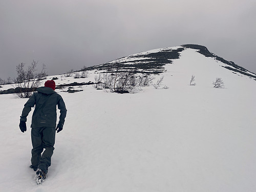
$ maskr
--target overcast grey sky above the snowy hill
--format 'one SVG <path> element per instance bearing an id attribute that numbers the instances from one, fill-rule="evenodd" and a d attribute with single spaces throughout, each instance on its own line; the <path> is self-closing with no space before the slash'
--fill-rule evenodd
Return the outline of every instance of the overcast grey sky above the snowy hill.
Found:
<path id="1" fill-rule="evenodd" d="M 20 62 L 49 75 L 199 44 L 256 73 L 255 0 L 0 0 L 0 78 Z"/>

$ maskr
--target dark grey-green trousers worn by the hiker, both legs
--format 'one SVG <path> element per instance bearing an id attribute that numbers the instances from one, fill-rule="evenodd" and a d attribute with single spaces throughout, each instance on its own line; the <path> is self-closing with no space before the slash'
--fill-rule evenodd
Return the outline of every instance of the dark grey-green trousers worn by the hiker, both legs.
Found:
<path id="1" fill-rule="evenodd" d="M 44 172 L 47 174 L 48 167 L 51 166 L 51 157 L 54 150 L 55 127 L 32 128 L 31 141 L 33 146 L 31 150 L 32 166 L 44 170 Z M 42 153 L 43 151 L 44 153 Z"/>

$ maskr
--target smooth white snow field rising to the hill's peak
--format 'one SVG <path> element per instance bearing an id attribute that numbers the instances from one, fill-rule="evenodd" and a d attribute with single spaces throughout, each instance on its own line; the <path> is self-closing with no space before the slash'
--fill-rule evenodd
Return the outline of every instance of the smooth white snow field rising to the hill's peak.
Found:
<path id="1" fill-rule="evenodd" d="M 29 168 L 33 109 L 22 133 L 19 116 L 27 99 L 0 95 L 0 190 L 256 191 L 256 81 L 222 65 L 185 49 L 161 74 L 161 88 L 169 89 L 56 90 L 68 113 L 42 185 Z M 189 86 L 191 75 L 196 86 Z M 58 75 L 55 82 L 88 82 L 94 76 L 94 71 L 86 79 Z M 224 89 L 213 88 L 217 77 Z"/>

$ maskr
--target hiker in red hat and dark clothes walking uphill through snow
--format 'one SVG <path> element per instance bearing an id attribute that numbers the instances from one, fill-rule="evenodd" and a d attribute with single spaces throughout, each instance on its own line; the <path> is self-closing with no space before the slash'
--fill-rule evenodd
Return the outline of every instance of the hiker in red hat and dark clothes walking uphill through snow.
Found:
<path id="1" fill-rule="evenodd" d="M 55 82 L 47 80 L 45 87 L 39 87 L 37 92 L 29 98 L 25 103 L 20 116 L 19 129 L 23 133 L 27 131 L 26 121 L 31 108 L 35 109 L 31 123 L 31 141 L 32 141 L 32 157 L 30 167 L 36 171 L 36 176 L 44 180 L 51 166 L 51 157 L 53 155 L 55 132 L 63 129 L 67 109 L 62 97 L 55 91 Z M 60 110 L 59 121 L 56 126 L 57 113 L 56 105 Z M 45 148 L 45 151 L 44 151 Z M 41 155 L 41 153 L 44 153 Z"/>

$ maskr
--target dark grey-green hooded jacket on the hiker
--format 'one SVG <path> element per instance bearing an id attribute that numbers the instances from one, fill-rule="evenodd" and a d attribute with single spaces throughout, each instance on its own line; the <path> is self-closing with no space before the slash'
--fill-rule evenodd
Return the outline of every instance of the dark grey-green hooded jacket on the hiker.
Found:
<path id="1" fill-rule="evenodd" d="M 25 103 L 22 116 L 20 116 L 20 121 L 27 121 L 27 116 L 31 111 L 31 108 L 35 105 L 31 127 L 56 127 L 56 105 L 58 105 L 58 109 L 60 110 L 58 125 L 63 127 L 67 109 L 62 97 L 48 87 L 40 87 L 36 91 L 37 92 L 35 92 Z"/>

